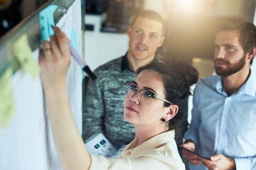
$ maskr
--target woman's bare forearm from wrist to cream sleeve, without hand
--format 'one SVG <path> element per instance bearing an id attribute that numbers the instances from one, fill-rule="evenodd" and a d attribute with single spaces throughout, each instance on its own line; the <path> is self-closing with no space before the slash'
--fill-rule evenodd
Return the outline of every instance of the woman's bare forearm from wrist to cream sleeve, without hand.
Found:
<path id="1" fill-rule="evenodd" d="M 90 154 L 75 125 L 67 87 L 46 91 L 46 101 L 55 147 L 63 169 L 89 169 Z"/>

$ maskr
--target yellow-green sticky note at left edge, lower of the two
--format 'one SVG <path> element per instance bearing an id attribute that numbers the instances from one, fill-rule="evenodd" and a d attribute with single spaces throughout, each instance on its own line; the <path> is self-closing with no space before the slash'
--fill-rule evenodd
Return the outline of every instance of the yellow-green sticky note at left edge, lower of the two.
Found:
<path id="1" fill-rule="evenodd" d="M 13 71 L 11 68 L 6 69 L 4 74 L 0 77 L 0 115 L 1 125 L 6 127 L 9 125 L 12 116 L 16 110 L 14 102 L 14 94 L 11 89 L 11 75 Z"/>

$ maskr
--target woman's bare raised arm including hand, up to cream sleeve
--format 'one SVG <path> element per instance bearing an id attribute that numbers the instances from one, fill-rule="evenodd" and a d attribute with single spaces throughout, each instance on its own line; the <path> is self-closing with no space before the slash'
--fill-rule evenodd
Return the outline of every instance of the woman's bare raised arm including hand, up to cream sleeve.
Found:
<path id="1" fill-rule="evenodd" d="M 60 28 L 54 26 L 53 30 L 55 35 L 50 36 L 50 42 L 43 42 L 39 64 L 55 147 L 63 169 L 89 169 L 90 154 L 82 142 L 68 101 L 68 39 Z"/>

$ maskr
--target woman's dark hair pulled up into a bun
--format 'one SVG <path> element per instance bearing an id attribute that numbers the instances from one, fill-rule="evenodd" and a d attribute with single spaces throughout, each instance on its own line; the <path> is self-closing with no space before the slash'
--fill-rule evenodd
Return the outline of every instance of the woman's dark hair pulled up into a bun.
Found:
<path id="1" fill-rule="evenodd" d="M 178 124 L 184 117 L 187 98 L 191 95 L 190 86 L 198 81 L 198 71 L 191 64 L 180 60 L 149 62 L 149 64 L 139 67 L 137 74 L 144 69 L 155 72 L 161 77 L 164 83 L 166 100 L 178 106 L 178 113 L 166 125 L 168 125 L 169 130 L 175 130 L 176 136 L 179 136 Z M 164 102 L 164 106 L 169 107 L 170 103 Z"/>

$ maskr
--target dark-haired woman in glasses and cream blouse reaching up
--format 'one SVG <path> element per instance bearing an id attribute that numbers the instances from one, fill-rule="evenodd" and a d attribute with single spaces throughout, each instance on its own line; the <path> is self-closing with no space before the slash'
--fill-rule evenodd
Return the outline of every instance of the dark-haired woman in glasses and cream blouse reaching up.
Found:
<path id="1" fill-rule="evenodd" d="M 44 42 L 39 63 L 50 125 L 63 169 L 185 169 L 175 132 L 183 116 L 189 87 L 198 81 L 196 69 L 183 62 L 151 62 L 125 82 L 124 119 L 136 129 L 134 140 L 117 159 L 87 152 L 68 101 L 66 78 L 70 64 L 67 39 L 59 28 Z"/>

